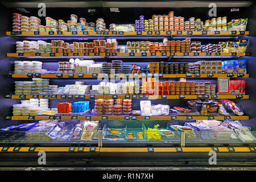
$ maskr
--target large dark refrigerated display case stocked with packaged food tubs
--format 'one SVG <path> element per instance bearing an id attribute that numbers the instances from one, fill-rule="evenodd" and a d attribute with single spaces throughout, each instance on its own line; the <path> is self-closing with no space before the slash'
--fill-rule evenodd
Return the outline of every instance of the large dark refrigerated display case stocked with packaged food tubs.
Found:
<path id="1" fill-rule="evenodd" d="M 255 166 L 255 3 L 142 2 L 2 3 L 0 166 Z"/>

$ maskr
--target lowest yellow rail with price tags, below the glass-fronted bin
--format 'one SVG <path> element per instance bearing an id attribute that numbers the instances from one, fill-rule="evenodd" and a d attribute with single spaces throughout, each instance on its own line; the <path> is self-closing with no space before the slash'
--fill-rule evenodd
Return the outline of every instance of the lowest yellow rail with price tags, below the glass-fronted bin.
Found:
<path id="1" fill-rule="evenodd" d="M 153 147 L 152 147 L 153 148 Z M 255 147 L 214 147 L 219 152 L 256 152 Z M 213 151 L 212 147 L 154 147 L 150 151 L 147 147 L 0 147 L 0 152 L 207 152 Z"/>

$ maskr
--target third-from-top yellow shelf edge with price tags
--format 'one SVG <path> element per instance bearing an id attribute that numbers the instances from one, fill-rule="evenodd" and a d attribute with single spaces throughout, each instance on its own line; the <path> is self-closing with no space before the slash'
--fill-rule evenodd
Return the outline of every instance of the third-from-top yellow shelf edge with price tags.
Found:
<path id="1" fill-rule="evenodd" d="M 120 73 L 120 74 L 110 74 L 110 75 L 106 75 L 104 73 L 98 73 L 97 75 L 96 74 L 71 74 L 71 75 L 68 75 L 68 74 L 63 74 L 62 76 L 56 76 L 56 74 L 41 74 L 40 73 L 40 76 L 37 74 L 35 75 L 35 73 L 33 75 L 30 75 L 28 76 L 27 74 L 8 74 L 7 77 L 13 77 L 13 78 L 31 78 L 31 77 L 41 77 L 41 78 L 98 78 L 98 77 L 104 77 L 104 76 L 109 76 L 110 78 L 113 78 L 114 76 L 119 76 L 119 77 L 127 77 L 127 75 L 129 77 L 139 77 L 141 78 L 142 75 L 138 75 L 138 74 L 123 74 L 123 73 Z M 147 74 L 148 75 L 152 75 L 152 76 L 155 76 L 155 75 L 158 75 L 160 77 L 163 77 L 163 78 L 218 78 L 218 77 L 228 77 L 227 74 L 213 74 L 212 76 L 210 75 L 207 75 L 207 74 L 199 74 L 199 76 L 196 76 L 195 74 L 192 74 L 192 75 L 187 75 L 187 74 L 156 74 L 156 73 L 149 73 Z M 234 78 L 236 77 L 249 77 L 249 74 L 243 74 L 243 75 L 237 75 L 237 74 L 234 74 L 233 75 Z"/>

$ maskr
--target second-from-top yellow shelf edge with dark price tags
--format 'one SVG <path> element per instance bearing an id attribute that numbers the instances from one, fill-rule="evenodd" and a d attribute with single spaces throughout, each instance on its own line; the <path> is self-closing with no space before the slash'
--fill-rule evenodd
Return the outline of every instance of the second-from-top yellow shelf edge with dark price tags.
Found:
<path id="1" fill-rule="evenodd" d="M 206 53 L 206 52 L 179 52 L 179 53 L 7 53 L 7 57 L 27 57 L 36 59 L 46 58 L 71 58 L 71 57 L 93 57 L 93 59 L 102 59 L 104 57 L 120 58 L 164 58 L 164 57 L 189 57 L 189 58 L 214 58 L 214 57 L 241 57 L 249 56 L 249 53 Z"/>

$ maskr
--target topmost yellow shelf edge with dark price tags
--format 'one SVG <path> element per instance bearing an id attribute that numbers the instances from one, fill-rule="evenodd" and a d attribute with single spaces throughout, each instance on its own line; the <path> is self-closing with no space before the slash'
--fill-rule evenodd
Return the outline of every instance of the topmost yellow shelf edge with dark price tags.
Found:
<path id="1" fill-rule="evenodd" d="M 135 38 L 158 38 L 163 36 L 200 36 L 204 38 L 222 38 L 222 37 L 232 37 L 232 36 L 243 36 L 249 35 L 249 31 L 149 31 L 149 32 L 122 32 L 122 31 L 114 31 L 114 32 L 6 32 L 7 36 L 32 36 L 33 38 L 40 38 L 45 36 L 46 38 L 55 39 L 57 38 L 104 38 L 104 36 L 115 36 L 118 39 L 129 38 L 130 36 L 134 36 Z"/>

